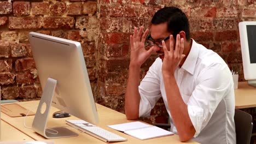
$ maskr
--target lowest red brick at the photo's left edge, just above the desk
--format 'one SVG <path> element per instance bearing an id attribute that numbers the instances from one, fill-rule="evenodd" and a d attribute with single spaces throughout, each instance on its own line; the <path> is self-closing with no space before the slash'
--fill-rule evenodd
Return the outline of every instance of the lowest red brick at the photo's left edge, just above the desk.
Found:
<path id="1" fill-rule="evenodd" d="M 3 99 L 17 99 L 19 97 L 19 88 L 17 86 L 1 88 Z"/>

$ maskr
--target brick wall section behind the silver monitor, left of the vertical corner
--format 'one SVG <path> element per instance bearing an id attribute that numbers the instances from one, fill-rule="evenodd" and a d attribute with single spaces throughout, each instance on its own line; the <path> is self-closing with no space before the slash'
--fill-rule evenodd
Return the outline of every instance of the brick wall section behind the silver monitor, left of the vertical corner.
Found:
<path id="1" fill-rule="evenodd" d="M 29 32 L 79 41 L 96 91 L 96 1 L 0 1 L 0 85 L 2 99 L 39 99 L 42 94 Z"/>

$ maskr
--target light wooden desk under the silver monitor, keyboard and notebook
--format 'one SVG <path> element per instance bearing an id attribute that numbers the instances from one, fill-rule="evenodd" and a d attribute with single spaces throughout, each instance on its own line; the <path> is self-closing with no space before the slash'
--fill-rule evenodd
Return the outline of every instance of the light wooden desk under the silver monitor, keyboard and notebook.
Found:
<path id="1" fill-rule="evenodd" d="M 39 104 L 39 101 L 26 101 L 26 102 L 20 102 L 19 103 L 21 106 L 25 107 L 26 109 L 30 110 L 33 107 L 37 106 Z M 114 111 L 112 109 L 109 109 L 107 107 L 104 107 L 102 105 L 96 104 L 97 107 L 97 111 L 98 111 L 98 116 L 100 118 L 100 123 L 97 124 L 98 127 L 101 127 L 103 129 L 106 129 L 108 131 L 111 131 L 112 133 L 118 134 L 120 136 L 125 137 L 128 141 L 125 142 L 115 142 L 115 143 L 182 143 L 179 142 L 179 137 L 178 135 L 172 135 L 172 136 L 165 136 L 165 137 L 159 137 L 156 139 L 149 139 L 149 140 L 138 140 L 135 137 L 126 135 L 124 133 L 121 133 L 120 131 L 108 128 L 107 125 L 112 125 L 112 124 L 119 124 L 119 123 L 125 123 L 125 122 L 132 122 L 126 119 L 125 115 L 123 113 Z M 36 109 L 32 110 L 33 112 L 36 112 Z M 67 126 L 65 120 L 66 119 L 78 119 L 76 117 L 68 117 L 68 118 L 53 118 L 51 115 L 53 112 L 56 112 L 57 109 L 55 107 L 51 107 L 50 110 L 50 115 L 48 118 L 48 127 L 57 127 L 57 126 L 62 126 L 65 125 Z M 1 117 L 2 119 L 4 119 L 5 121 L 8 121 L 11 125 L 13 125 L 13 127 L 19 129 L 20 131 L 22 131 L 23 133 L 30 135 L 33 139 L 35 140 L 45 140 L 45 138 L 43 136 L 38 135 L 37 133 L 35 133 L 32 129 L 26 129 L 23 125 L 24 123 L 24 117 L 16 117 L 16 118 L 11 118 L 8 115 L 5 115 L 4 113 L 1 113 Z M 28 116 L 26 118 L 26 125 L 28 127 L 31 127 L 32 122 L 33 122 L 33 118 L 34 116 Z M 68 137 L 68 138 L 61 138 L 61 139 L 51 139 L 51 141 L 54 141 L 55 143 L 104 143 L 106 144 L 106 142 L 103 142 L 101 140 L 96 139 L 95 137 L 85 134 L 85 133 L 79 133 L 79 131 L 69 128 L 73 131 L 75 131 L 75 133 L 78 133 L 79 136 L 77 137 Z M 197 143 L 194 141 L 189 141 L 186 143 Z"/>

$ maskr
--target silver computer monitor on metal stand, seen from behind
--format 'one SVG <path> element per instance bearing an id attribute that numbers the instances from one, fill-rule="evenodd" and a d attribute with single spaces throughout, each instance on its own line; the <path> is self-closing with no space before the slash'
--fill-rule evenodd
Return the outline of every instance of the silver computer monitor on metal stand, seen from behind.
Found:
<path id="1" fill-rule="evenodd" d="M 35 32 L 29 33 L 29 40 L 43 88 L 32 129 L 47 139 L 78 135 L 63 127 L 46 130 L 51 105 L 96 124 L 98 114 L 80 43 Z"/>

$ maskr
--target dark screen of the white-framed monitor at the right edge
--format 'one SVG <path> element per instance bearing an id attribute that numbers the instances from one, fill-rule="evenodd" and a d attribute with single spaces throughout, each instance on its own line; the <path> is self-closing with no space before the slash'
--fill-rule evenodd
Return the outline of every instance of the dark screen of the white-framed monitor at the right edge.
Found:
<path id="1" fill-rule="evenodd" d="M 250 62 L 256 63 L 256 25 L 247 25 L 246 29 Z"/>

